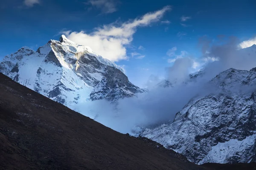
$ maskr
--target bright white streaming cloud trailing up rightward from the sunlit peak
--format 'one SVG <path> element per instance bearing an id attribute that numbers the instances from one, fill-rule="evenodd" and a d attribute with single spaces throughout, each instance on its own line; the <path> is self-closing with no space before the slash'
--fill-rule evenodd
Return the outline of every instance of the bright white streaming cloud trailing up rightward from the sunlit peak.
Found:
<path id="1" fill-rule="evenodd" d="M 120 26 L 115 26 L 115 24 L 112 23 L 96 28 L 95 31 L 91 33 L 85 33 L 84 31 L 65 31 L 62 33 L 71 41 L 90 46 L 93 51 L 102 55 L 102 57 L 110 59 L 111 61 L 118 61 L 128 58 L 126 55 L 126 46 L 131 44 L 136 29 L 159 21 L 160 18 L 163 17 L 163 14 L 169 10 L 171 10 L 171 7 L 165 6 L 161 10 L 147 13 L 134 20 L 129 20 L 122 23 Z"/>

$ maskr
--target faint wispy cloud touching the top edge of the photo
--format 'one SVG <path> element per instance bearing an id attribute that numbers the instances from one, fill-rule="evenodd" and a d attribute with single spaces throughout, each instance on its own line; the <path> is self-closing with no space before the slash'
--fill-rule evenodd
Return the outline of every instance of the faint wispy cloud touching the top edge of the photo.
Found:
<path id="1" fill-rule="evenodd" d="M 117 11 L 118 0 L 89 0 L 86 4 L 90 4 L 102 11 L 102 14 L 109 14 Z"/>

